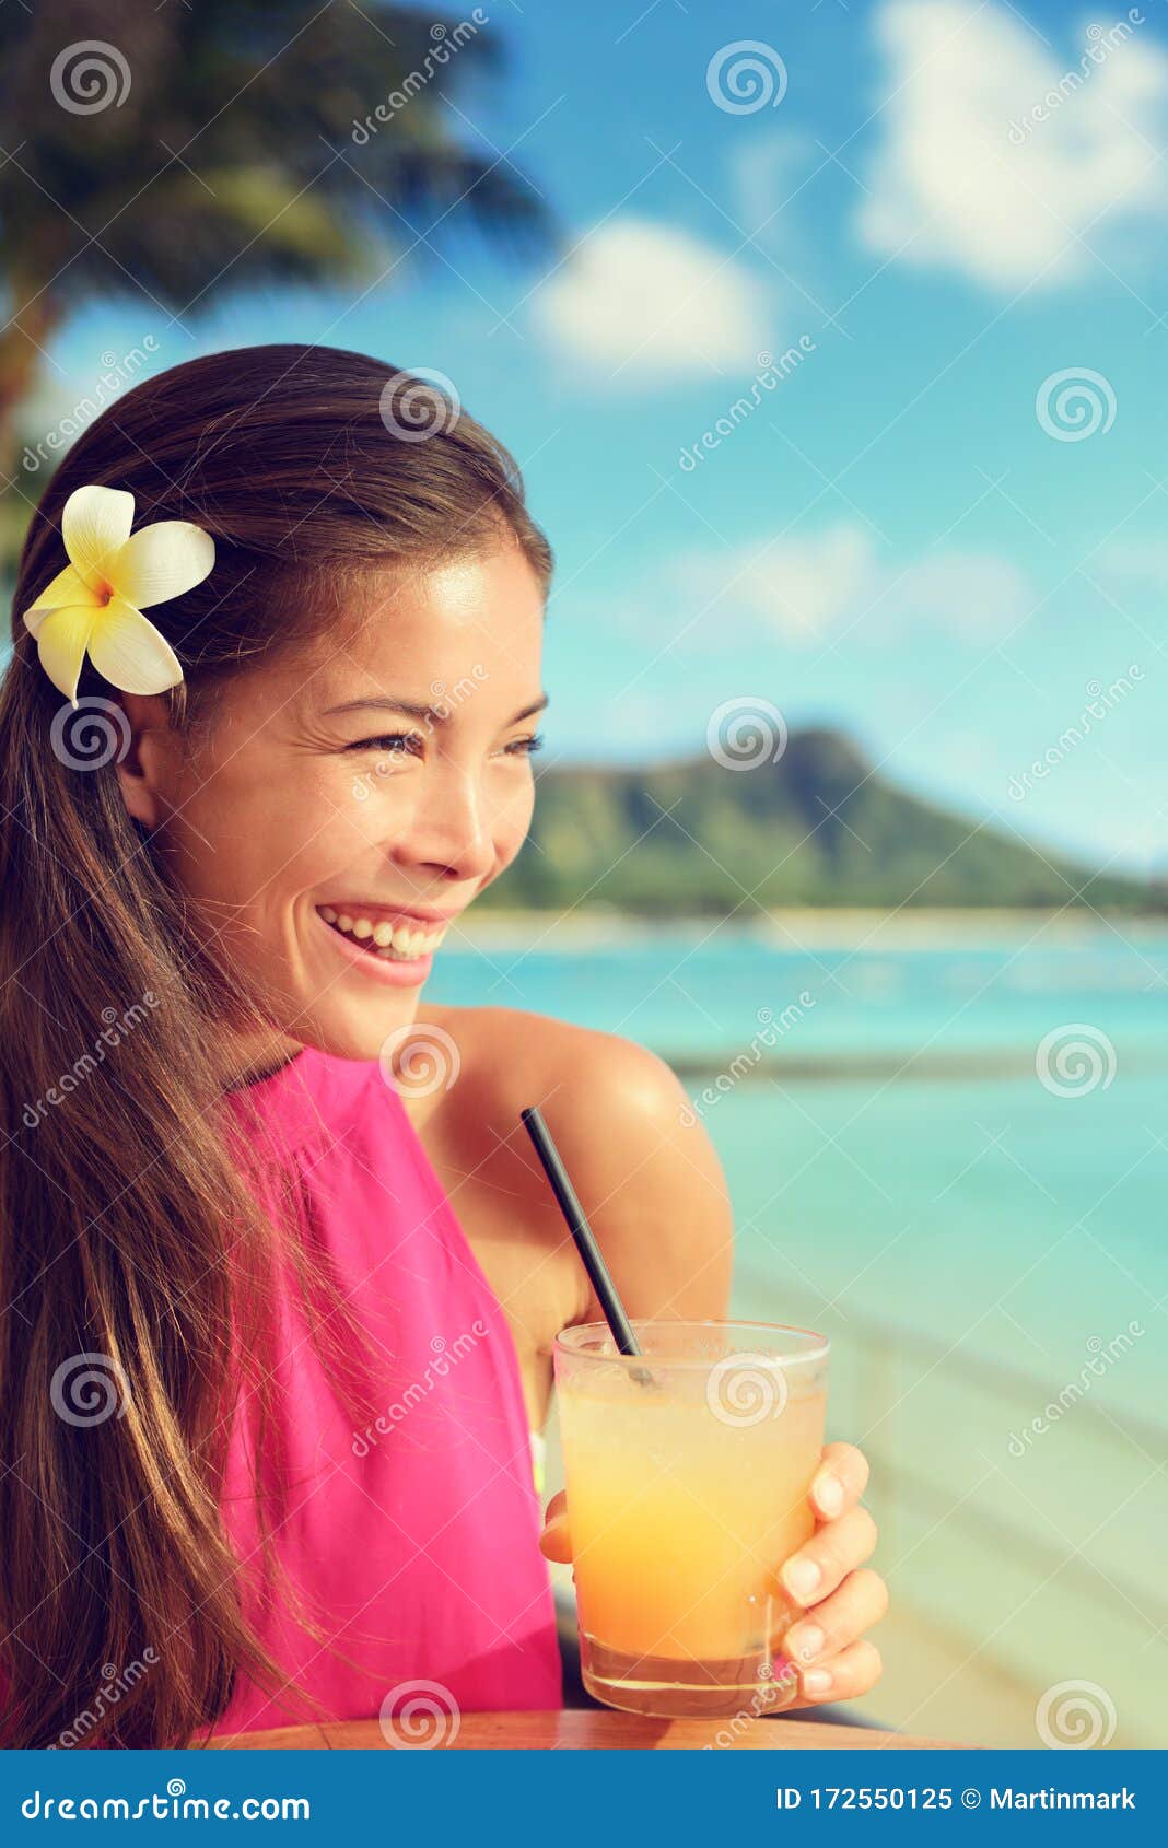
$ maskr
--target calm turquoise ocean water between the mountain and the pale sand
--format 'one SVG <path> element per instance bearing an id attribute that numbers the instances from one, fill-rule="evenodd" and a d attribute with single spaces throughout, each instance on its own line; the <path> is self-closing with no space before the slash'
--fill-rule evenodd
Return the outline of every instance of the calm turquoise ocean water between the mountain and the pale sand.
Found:
<path id="1" fill-rule="evenodd" d="M 789 1284 L 1042 1371 L 1159 1316 L 1109 1384 L 1164 1382 L 1168 928 L 541 931 L 445 950 L 427 994 L 628 1035 L 713 1090 L 741 1312 Z"/>

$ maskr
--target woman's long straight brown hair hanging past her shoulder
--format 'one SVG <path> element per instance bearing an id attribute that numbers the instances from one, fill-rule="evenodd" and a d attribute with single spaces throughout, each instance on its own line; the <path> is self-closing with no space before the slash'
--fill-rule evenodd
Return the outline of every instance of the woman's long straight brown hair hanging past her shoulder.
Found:
<path id="1" fill-rule="evenodd" d="M 185 1745 L 237 1676 L 285 1684 L 244 1619 L 218 1488 L 240 1395 L 270 1416 L 264 1281 L 285 1251 L 312 1279 L 264 1199 L 272 1173 L 229 1137 L 209 1050 L 222 968 L 122 802 L 113 689 L 87 663 L 72 715 L 20 621 L 67 564 L 61 508 L 83 482 L 129 490 L 135 527 L 214 536 L 211 577 L 150 610 L 185 669 L 177 728 L 213 723 L 224 678 L 325 634 L 370 567 L 501 541 L 543 586 L 553 564 L 512 456 L 449 394 L 327 347 L 176 366 L 107 408 L 46 488 L 0 686 L 9 1748 Z"/>

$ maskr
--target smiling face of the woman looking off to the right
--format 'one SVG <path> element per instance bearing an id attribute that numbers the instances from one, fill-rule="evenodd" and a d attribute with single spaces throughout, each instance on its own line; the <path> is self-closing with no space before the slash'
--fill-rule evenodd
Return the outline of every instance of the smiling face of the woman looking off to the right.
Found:
<path id="1" fill-rule="evenodd" d="M 521 551 L 375 573 L 355 615 L 353 639 L 227 682 L 198 748 L 146 730 L 124 776 L 214 957 L 266 987 L 268 1064 L 375 1059 L 532 815 L 543 593 Z"/>

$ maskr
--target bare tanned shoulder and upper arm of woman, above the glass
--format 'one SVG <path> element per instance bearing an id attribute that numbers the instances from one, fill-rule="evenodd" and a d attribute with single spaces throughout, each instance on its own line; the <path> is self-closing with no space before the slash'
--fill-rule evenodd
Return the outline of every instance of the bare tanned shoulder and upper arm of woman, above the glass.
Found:
<path id="1" fill-rule="evenodd" d="M 682 1081 L 658 1053 L 510 1007 L 431 1009 L 427 1020 L 456 1048 L 458 1114 L 493 1125 L 525 1175 L 532 1210 L 558 1216 L 519 1120 L 523 1107 L 540 1107 L 630 1314 L 726 1314 L 726 1179 Z M 591 1316 L 595 1299 L 582 1303 L 582 1319 Z"/>

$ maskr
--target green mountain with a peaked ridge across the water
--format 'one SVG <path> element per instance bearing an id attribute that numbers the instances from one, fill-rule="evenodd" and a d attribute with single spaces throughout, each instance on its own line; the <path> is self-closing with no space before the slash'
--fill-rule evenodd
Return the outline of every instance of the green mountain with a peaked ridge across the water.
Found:
<path id="1" fill-rule="evenodd" d="M 1076 896 L 1077 894 L 1077 896 Z M 793 734 L 774 763 L 558 767 L 532 835 L 482 907 L 750 917 L 758 906 L 1162 909 L 1164 891 L 1092 874 L 896 789 L 850 739 Z"/>

